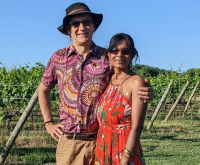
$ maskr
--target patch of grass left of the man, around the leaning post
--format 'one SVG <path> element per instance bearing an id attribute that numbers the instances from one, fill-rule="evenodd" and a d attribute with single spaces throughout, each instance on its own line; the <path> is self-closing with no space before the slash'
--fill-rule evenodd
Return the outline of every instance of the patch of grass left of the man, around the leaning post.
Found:
<path id="1" fill-rule="evenodd" d="M 8 136 L 1 134 L 0 151 L 3 150 Z M 8 157 L 6 165 L 41 165 L 55 164 L 56 141 L 51 138 L 46 130 L 23 130 L 15 141 Z"/>

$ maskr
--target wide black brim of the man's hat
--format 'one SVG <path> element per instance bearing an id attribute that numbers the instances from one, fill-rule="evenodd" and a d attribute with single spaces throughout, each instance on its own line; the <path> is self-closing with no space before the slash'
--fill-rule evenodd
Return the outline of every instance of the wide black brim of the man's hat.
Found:
<path id="1" fill-rule="evenodd" d="M 91 13 L 91 12 L 88 12 L 88 11 L 78 11 L 74 14 L 71 14 L 71 15 L 67 15 L 63 18 L 63 24 L 61 26 L 59 26 L 57 29 L 63 33 L 63 34 L 66 34 L 66 30 L 64 29 L 64 25 L 66 25 L 69 21 L 69 18 L 74 16 L 74 15 L 79 15 L 79 14 L 89 14 L 91 15 L 92 17 L 92 20 L 94 22 L 94 26 L 95 26 L 95 31 L 98 29 L 99 25 L 101 24 L 102 20 L 103 20 L 103 14 L 96 14 L 96 13 Z"/>

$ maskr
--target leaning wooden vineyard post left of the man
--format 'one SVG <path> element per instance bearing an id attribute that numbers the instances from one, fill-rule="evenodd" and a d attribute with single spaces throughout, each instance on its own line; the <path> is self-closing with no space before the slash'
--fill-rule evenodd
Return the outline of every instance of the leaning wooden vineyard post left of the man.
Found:
<path id="1" fill-rule="evenodd" d="M 0 157 L 0 164 L 3 164 L 6 160 L 6 157 L 8 156 L 8 153 L 10 149 L 12 148 L 13 143 L 15 142 L 18 134 L 20 133 L 25 121 L 27 120 L 30 112 L 32 111 L 33 107 L 35 106 L 38 98 L 38 88 L 36 89 L 35 93 L 31 97 L 26 109 L 24 110 L 22 116 L 20 117 L 19 121 L 17 122 L 13 132 L 11 133 L 7 143 L 6 147 L 3 149 Z"/>

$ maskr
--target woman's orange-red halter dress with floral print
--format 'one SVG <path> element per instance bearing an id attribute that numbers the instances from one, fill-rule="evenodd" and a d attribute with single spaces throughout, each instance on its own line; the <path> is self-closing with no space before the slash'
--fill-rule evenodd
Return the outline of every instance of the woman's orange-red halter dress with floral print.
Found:
<path id="1" fill-rule="evenodd" d="M 99 102 L 95 165 L 117 165 L 122 157 L 131 130 L 132 106 L 123 94 L 122 84 L 110 83 Z M 145 165 L 140 142 L 129 164 Z"/>

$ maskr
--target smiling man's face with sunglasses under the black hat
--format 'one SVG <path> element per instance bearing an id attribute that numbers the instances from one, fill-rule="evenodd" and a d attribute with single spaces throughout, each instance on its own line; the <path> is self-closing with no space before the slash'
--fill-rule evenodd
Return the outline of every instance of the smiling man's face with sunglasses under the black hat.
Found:
<path id="1" fill-rule="evenodd" d="M 82 46 L 91 44 L 92 35 L 95 31 L 94 24 L 91 20 L 92 17 L 89 14 L 73 16 L 70 19 L 71 31 L 68 31 L 68 34 L 71 35 L 74 44 Z"/>

